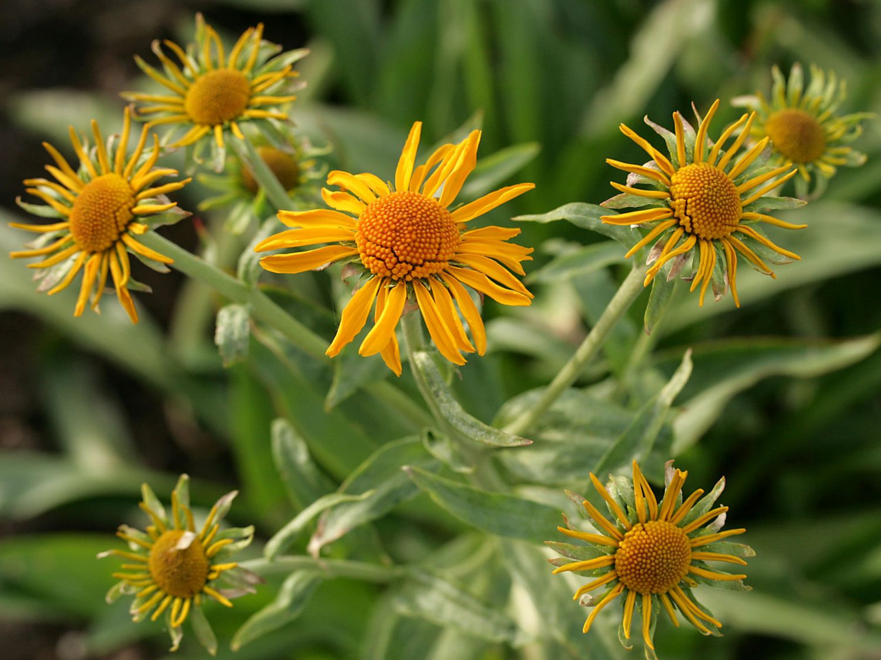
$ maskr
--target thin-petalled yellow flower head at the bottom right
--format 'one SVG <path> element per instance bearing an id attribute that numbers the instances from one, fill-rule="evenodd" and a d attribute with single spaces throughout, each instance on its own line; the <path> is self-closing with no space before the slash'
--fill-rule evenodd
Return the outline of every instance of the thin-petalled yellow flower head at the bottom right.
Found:
<path id="1" fill-rule="evenodd" d="M 589 518 L 601 533 L 580 532 L 566 519 L 566 527 L 558 527 L 559 531 L 588 545 L 552 541 L 547 544 L 567 558 L 551 560 L 558 567 L 554 575 L 574 571 L 594 578 L 574 596 L 581 599 L 582 605 L 593 607 L 584 622 L 585 633 L 603 607 L 624 596 L 618 638 L 622 643 L 630 640 L 636 612 L 646 656 L 654 658 L 656 615 L 661 609 L 674 626 L 679 625 L 678 611 L 701 633 L 719 634 L 722 624 L 698 604 L 692 588 L 707 583 L 735 590 L 750 589 L 741 582 L 746 576 L 725 573 L 707 564 L 721 561 L 745 565 L 743 558 L 754 555 L 750 546 L 724 540 L 745 530 L 720 532 L 728 507 L 712 507 L 725 486 L 724 478 L 707 495 L 701 497 L 704 491 L 699 488 L 683 501 L 682 487 L 687 475 L 674 469 L 670 461 L 666 466 L 667 488 L 658 502 L 636 461 L 633 480 L 613 478 L 605 488 L 591 473 L 590 480 L 603 498 L 611 520 L 581 496 L 569 494 L 579 505 L 582 516 Z M 600 587 L 604 588 L 601 596 L 585 595 Z"/>

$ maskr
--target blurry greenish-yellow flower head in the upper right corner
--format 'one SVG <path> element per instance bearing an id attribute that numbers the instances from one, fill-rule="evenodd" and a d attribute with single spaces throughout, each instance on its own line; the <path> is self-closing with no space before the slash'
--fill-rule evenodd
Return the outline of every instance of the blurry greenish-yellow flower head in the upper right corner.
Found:
<path id="1" fill-rule="evenodd" d="M 848 146 L 862 133 L 861 122 L 874 116 L 855 113 L 839 116 L 838 107 L 845 99 L 845 81 L 828 76 L 811 64 L 811 82 L 804 86 L 802 65 L 796 62 L 788 79 L 779 67 L 771 70 L 774 86 L 771 98 L 761 92 L 734 99 L 735 106 L 748 107 L 757 114 L 750 135 L 756 140 L 768 137 L 774 150 L 774 162 L 790 162 L 799 178 L 796 190 L 806 197 L 812 174 L 819 174 L 814 196 L 822 192 L 826 180 L 832 178 L 840 165 L 857 167 L 866 155 Z"/>

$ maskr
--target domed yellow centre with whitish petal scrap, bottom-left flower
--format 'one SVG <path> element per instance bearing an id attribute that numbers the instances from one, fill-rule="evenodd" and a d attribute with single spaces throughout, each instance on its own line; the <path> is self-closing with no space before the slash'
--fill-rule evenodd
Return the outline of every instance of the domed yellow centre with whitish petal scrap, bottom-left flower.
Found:
<path id="1" fill-rule="evenodd" d="M 193 532 L 169 530 L 153 544 L 148 566 L 161 590 L 175 598 L 192 598 L 208 581 L 211 561 Z"/>

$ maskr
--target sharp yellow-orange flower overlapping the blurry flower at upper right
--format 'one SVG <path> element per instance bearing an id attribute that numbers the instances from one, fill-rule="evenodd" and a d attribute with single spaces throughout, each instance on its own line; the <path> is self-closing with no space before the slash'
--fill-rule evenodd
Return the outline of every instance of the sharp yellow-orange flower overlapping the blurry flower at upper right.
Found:
<path id="1" fill-rule="evenodd" d="M 765 166 L 763 155 L 768 138 L 759 141 L 750 150 L 739 153 L 751 130 L 755 113 L 744 114 L 724 130 L 713 143 L 708 136 L 718 99 L 707 116 L 700 120 L 697 132 L 679 113 L 673 113 L 676 132 L 646 122 L 663 136 L 670 150 L 667 158 L 647 140 L 621 124 L 621 132 L 640 145 L 652 158 L 645 165 L 630 165 L 608 158 L 606 162 L 619 170 L 629 172 L 627 185 L 611 182 L 621 194 L 601 204 L 606 208 L 641 207 L 640 210 L 603 216 L 606 224 L 630 226 L 654 224 L 651 231 L 626 253 L 632 256 L 640 248 L 656 239 L 648 254 L 645 285 L 651 282 L 668 263 L 668 280 L 676 277 L 692 258 L 691 290 L 700 285 L 700 305 L 712 283 L 716 300 L 730 286 L 734 303 L 737 297 L 737 253 L 741 253 L 753 268 L 771 275 L 765 259 L 786 263 L 800 257 L 776 246 L 759 230 L 756 223 L 774 224 L 786 229 L 802 229 L 804 224 L 790 224 L 760 211 L 798 206 L 803 202 L 774 197 L 771 191 L 791 178 L 796 170 L 788 172 L 789 165 Z M 740 129 L 740 134 L 727 149 L 725 143 Z M 635 185 L 648 186 L 634 187 Z M 781 259 L 781 257 L 783 259 Z M 764 258 L 764 259 L 763 259 Z"/>

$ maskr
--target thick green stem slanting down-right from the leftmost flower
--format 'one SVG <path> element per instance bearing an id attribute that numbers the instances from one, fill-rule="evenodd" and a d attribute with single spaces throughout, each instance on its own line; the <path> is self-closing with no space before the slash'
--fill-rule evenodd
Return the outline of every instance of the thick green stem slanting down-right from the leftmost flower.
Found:
<path id="1" fill-rule="evenodd" d="M 276 328 L 278 332 L 285 335 L 292 345 L 300 348 L 300 350 L 315 357 L 317 360 L 322 362 L 329 361 L 329 357 L 324 355 L 327 341 L 324 341 L 322 337 L 319 337 L 309 330 L 307 326 L 294 319 L 278 304 L 273 303 L 270 297 L 267 297 L 263 291 L 253 289 L 241 282 L 241 280 L 226 275 L 219 268 L 211 266 L 210 263 L 199 259 L 195 254 L 191 254 L 167 238 L 159 236 L 155 231 L 145 233 L 144 236 L 138 237 L 138 240 L 144 246 L 174 259 L 174 264 L 172 265 L 184 275 L 189 275 L 189 277 L 205 282 L 212 289 L 218 291 L 219 294 L 235 303 L 250 305 L 251 316 L 254 319 Z"/>

